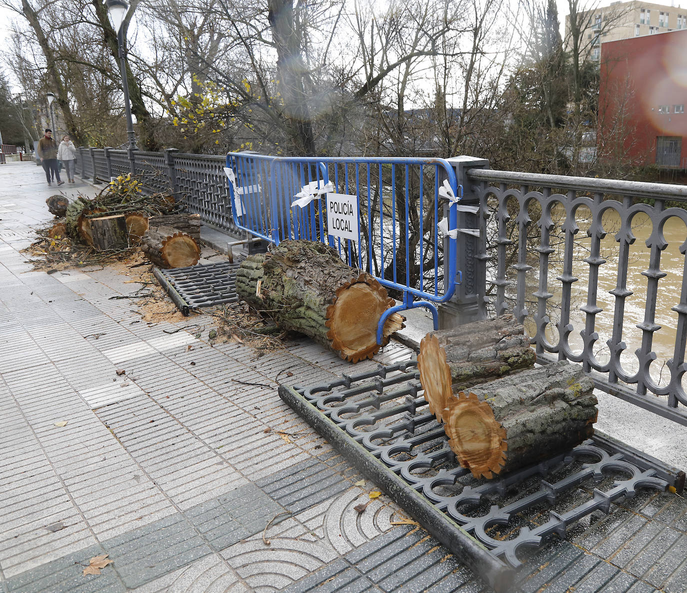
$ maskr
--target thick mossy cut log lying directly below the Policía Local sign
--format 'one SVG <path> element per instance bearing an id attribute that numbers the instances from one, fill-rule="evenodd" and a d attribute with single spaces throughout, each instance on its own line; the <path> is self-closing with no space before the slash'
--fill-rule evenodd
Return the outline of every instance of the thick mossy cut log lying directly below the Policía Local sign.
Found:
<path id="1" fill-rule="evenodd" d="M 305 334 L 351 362 L 372 358 L 404 327 L 401 314 L 390 315 L 378 345 L 377 325 L 394 299 L 319 242 L 282 241 L 270 253 L 249 255 L 236 271 L 236 293 L 280 329 Z"/>

